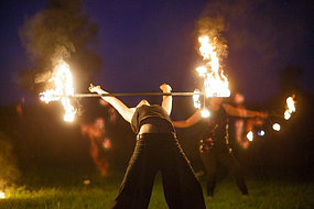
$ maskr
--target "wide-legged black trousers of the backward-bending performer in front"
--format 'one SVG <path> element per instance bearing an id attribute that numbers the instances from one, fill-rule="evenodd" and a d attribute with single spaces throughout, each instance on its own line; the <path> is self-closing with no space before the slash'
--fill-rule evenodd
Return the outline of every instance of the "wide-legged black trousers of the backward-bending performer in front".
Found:
<path id="1" fill-rule="evenodd" d="M 153 182 L 161 170 L 164 196 L 171 209 L 204 209 L 199 183 L 177 140 L 169 133 L 138 135 L 113 208 L 147 209 Z"/>

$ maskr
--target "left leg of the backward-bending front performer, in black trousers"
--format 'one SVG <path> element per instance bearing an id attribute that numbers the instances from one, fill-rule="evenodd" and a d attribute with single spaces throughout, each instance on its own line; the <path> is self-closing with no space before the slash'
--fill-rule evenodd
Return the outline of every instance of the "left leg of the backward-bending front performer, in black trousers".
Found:
<path id="1" fill-rule="evenodd" d="M 153 162 L 153 151 L 149 139 L 137 140 L 113 209 L 147 209 L 158 167 Z M 156 148 L 156 147 L 155 147 Z"/>

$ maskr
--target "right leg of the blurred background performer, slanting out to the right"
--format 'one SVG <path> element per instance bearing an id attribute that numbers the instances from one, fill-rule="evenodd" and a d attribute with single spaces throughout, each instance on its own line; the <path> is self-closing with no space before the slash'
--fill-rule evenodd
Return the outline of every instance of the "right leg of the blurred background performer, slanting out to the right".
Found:
<path id="1" fill-rule="evenodd" d="M 219 154 L 219 161 L 221 161 L 221 163 L 228 167 L 231 175 L 235 177 L 237 186 L 241 190 L 242 195 L 248 195 L 248 187 L 246 185 L 241 167 L 234 153 L 231 151 L 221 152 Z"/>

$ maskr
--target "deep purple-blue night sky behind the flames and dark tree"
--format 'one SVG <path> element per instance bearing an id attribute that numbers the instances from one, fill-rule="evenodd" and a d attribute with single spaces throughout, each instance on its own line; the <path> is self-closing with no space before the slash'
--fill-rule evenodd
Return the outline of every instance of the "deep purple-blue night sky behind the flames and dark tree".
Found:
<path id="1" fill-rule="evenodd" d="M 201 82 L 195 73 L 199 62 L 195 25 L 207 13 L 225 18 L 229 46 L 225 72 L 248 101 L 278 94 L 278 69 L 285 66 L 303 69 L 303 87 L 314 92 L 311 1 L 217 2 L 84 1 L 84 11 L 98 25 L 94 50 L 102 59 L 102 72 L 90 81 L 115 92 L 158 91 L 162 82 L 177 91 L 193 91 Z M 45 1 L 11 0 L 0 6 L 0 105 L 10 105 L 25 96 L 18 77 L 29 59 L 19 29 L 26 16 L 45 8 Z"/>

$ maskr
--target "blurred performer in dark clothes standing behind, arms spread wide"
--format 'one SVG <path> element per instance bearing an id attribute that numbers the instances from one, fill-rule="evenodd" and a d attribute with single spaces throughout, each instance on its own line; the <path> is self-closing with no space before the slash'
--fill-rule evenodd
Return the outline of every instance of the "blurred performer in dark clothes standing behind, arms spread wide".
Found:
<path id="1" fill-rule="evenodd" d="M 214 195 L 217 162 L 223 163 L 229 168 L 242 195 L 247 196 L 248 188 L 239 163 L 236 160 L 229 143 L 228 117 L 266 118 L 267 113 L 251 111 L 243 108 L 235 108 L 225 103 L 221 97 L 210 98 L 208 109 L 210 111 L 210 117 L 205 119 L 206 129 L 199 141 L 201 158 L 207 173 L 207 196 L 210 198 Z M 196 124 L 201 120 L 204 119 L 201 116 L 201 110 L 197 110 L 186 120 L 173 121 L 173 125 L 175 128 L 187 128 Z"/>

